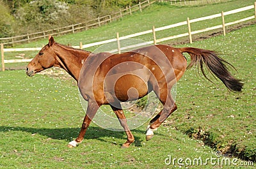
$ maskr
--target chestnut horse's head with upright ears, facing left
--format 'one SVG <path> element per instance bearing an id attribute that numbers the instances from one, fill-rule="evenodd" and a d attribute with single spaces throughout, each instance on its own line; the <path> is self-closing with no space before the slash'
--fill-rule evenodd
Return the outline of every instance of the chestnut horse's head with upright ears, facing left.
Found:
<path id="1" fill-rule="evenodd" d="M 49 43 L 45 45 L 35 58 L 29 62 L 26 68 L 26 74 L 29 77 L 35 75 L 42 70 L 51 68 L 52 66 L 58 66 L 58 61 L 56 61 L 57 55 L 53 52 L 53 45 L 55 41 L 52 36 L 49 36 Z"/>

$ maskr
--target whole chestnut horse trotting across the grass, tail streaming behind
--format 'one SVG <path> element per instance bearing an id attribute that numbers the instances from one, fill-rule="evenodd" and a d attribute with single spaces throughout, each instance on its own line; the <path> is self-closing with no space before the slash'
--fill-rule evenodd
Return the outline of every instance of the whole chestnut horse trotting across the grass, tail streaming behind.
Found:
<path id="1" fill-rule="evenodd" d="M 182 55 L 184 52 L 191 56 L 188 66 L 186 57 Z M 120 102 L 142 98 L 150 91 L 156 93 L 164 107 L 147 128 L 146 139 L 150 140 L 154 131 L 177 109 L 170 92 L 172 86 L 187 68 L 196 64 L 206 77 L 203 68 L 205 65 L 212 74 L 220 78 L 228 90 L 240 92 L 243 88 L 243 83 L 227 70 L 225 64 L 229 63 L 211 50 L 152 45 L 122 54 L 93 54 L 56 43 L 52 36 L 49 36 L 49 43 L 29 62 L 26 74 L 31 77 L 56 66 L 63 68 L 77 80 L 79 91 L 88 101 L 88 108 L 79 136 L 68 143 L 68 147 L 76 147 L 83 141 L 86 129 L 101 105 L 111 106 L 127 134 L 127 142 L 122 147 L 129 147 L 134 142 L 134 136 L 127 126 Z"/>

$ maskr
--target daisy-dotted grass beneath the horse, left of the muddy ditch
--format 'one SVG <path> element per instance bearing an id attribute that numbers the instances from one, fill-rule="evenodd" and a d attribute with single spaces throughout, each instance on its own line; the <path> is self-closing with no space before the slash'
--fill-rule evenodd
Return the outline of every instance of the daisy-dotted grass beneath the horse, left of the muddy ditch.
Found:
<path id="1" fill-rule="evenodd" d="M 95 124 L 79 147 L 68 149 L 66 145 L 76 138 L 84 115 L 76 85 L 45 75 L 29 78 L 24 71 L 5 71 L 0 77 L 3 168 L 172 168 L 164 163 L 168 155 L 216 158 L 202 141 L 170 126 L 162 126 L 155 138 L 146 142 L 147 124 L 132 131 L 136 141 L 129 149 L 120 149 L 126 138 L 124 132 L 108 131 Z M 212 166 L 209 163 L 203 168 Z"/>

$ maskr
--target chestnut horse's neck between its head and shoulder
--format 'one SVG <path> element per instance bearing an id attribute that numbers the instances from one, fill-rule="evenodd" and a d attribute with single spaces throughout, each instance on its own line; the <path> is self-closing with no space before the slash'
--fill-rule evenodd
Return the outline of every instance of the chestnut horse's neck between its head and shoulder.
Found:
<path id="1" fill-rule="evenodd" d="M 77 81 L 83 62 L 90 55 L 90 52 L 60 47 L 56 50 L 56 54 L 58 55 L 57 61 L 60 64 L 59 66 Z"/>

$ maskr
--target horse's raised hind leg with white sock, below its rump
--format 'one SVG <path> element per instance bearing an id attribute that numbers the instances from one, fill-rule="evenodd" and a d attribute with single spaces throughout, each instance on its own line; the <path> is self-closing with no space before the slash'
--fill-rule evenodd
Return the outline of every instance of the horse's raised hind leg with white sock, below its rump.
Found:
<path id="1" fill-rule="evenodd" d="M 175 104 L 170 92 L 165 92 L 165 93 L 167 93 L 167 96 L 163 92 L 162 92 L 162 95 L 159 96 L 159 99 L 161 103 L 163 103 L 164 108 L 163 110 L 161 110 L 161 112 L 159 112 L 159 114 L 156 115 L 156 117 L 154 117 L 154 119 L 150 121 L 150 126 L 148 126 L 147 128 L 147 134 L 146 134 L 147 141 L 154 136 L 154 131 L 157 130 L 157 128 L 162 124 L 162 122 L 167 117 L 169 117 L 169 115 L 171 115 L 172 112 L 174 112 L 177 109 L 177 105 Z"/>

